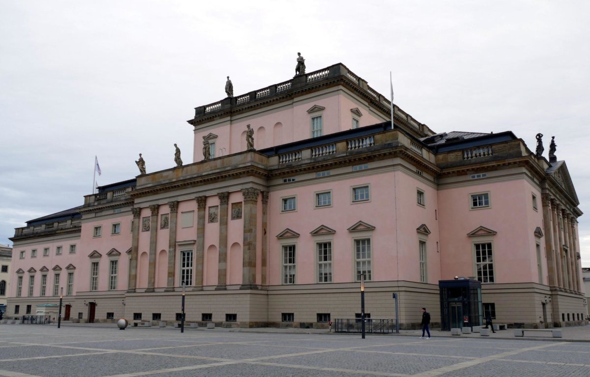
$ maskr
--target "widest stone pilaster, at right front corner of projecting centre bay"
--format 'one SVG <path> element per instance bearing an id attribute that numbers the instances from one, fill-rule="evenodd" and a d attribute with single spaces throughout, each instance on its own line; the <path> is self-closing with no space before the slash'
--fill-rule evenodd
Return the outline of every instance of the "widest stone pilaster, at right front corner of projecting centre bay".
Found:
<path id="1" fill-rule="evenodd" d="M 256 285 L 257 205 L 260 191 L 253 187 L 242 189 L 244 196 L 244 241 L 242 242 L 242 285 L 240 289 L 258 289 Z"/>

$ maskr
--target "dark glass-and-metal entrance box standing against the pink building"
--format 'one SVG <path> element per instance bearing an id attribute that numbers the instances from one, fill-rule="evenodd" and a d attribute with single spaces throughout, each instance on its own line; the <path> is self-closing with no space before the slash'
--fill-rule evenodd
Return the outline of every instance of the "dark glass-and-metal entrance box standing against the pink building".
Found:
<path id="1" fill-rule="evenodd" d="M 450 331 L 451 328 L 483 324 L 480 281 L 464 277 L 439 280 L 438 289 L 441 300 L 441 330 Z"/>

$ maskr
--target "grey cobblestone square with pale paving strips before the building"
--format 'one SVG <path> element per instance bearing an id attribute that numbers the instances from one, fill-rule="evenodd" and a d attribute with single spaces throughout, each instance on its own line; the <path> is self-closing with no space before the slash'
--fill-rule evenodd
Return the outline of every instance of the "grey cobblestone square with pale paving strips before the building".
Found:
<path id="1" fill-rule="evenodd" d="M 0 324 L 0 376 L 590 376 L 588 337 L 547 342 L 510 333 L 360 339 L 325 330 Z"/>

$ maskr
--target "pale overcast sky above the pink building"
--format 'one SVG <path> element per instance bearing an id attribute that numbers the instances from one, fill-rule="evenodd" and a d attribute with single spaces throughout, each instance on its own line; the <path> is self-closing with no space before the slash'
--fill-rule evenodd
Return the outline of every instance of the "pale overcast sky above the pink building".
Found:
<path id="1" fill-rule="evenodd" d="M 590 267 L 588 1 L 0 0 L 0 244 L 100 185 L 192 160 L 194 107 L 345 64 L 436 132 L 555 136 Z"/>

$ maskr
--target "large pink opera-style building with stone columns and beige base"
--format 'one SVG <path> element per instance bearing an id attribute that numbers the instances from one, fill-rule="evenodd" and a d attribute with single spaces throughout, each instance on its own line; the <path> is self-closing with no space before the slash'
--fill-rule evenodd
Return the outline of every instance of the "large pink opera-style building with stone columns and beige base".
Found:
<path id="1" fill-rule="evenodd" d="M 336 64 L 197 107 L 189 165 L 103 186 L 17 228 L 7 314 L 64 291 L 70 320 L 325 327 L 441 322 L 440 280 L 481 282 L 513 326 L 587 315 L 565 162 L 512 132 L 435 133 Z M 254 130 L 248 147 L 247 125 Z"/>

